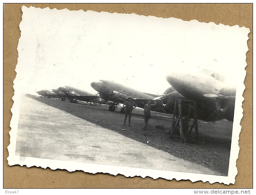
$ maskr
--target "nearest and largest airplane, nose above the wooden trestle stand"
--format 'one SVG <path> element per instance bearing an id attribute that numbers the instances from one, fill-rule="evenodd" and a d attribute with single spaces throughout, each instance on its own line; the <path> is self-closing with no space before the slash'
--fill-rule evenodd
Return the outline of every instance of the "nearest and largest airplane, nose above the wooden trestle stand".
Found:
<path id="1" fill-rule="evenodd" d="M 166 80 L 184 98 L 196 102 L 198 119 L 233 121 L 236 87 L 226 85 L 221 74 L 206 69 L 199 73 L 172 72 Z"/>

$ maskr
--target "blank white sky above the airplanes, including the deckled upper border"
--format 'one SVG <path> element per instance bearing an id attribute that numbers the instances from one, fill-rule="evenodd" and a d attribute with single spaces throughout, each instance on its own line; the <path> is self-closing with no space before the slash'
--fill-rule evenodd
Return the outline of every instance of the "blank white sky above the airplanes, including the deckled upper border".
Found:
<path id="1" fill-rule="evenodd" d="M 36 94 L 69 85 L 97 93 L 107 79 L 162 94 L 168 72 L 213 69 L 235 83 L 246 66 L 245 27 L 23 6 L 15 90 Z"/>

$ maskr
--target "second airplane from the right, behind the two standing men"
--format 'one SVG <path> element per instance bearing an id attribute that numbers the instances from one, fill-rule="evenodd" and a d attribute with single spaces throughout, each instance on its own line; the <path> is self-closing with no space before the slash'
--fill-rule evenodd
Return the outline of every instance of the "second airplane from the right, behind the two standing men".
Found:
<path id="1" fill-rule="evenodd" d="M 128 97 L 132 97 L 133 101 L 140 108 L 144 108 L 148 100 L 153 100 L 159 97 L 159 95 L 144 93 L 109 80 L 99 80 L 98 82 L 92 82 L 91 87 L 98 91 L 99 96 L 109 105 L 109 110 L 113 112 L 115 111 L 116 107 L 118 107 L 120 104 L 123 104 Z M 178 93 L 175 93 L 175 95 L 181 96 Z M 168 95 L 166 95 L 166 98 L 156 99 L 156 105 L 152 107 L 152 110 L 168 113 L 163 106 L 163 102 L 167 99 L 170 99 Z M 124 113 L 124 108 L 121 108 L 121 113 Z"/>

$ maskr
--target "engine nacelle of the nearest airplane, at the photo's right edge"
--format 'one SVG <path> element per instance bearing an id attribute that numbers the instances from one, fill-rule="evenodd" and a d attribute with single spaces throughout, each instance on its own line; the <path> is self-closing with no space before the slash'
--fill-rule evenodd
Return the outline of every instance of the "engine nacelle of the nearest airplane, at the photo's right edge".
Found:
<path id="1" fill-rule="evenodd" d="M 227 120 L 234 119 L 234 106 L 236 100 L 236 87 L 224 87 L 216 98 L 216 108 L 218 112 Z"/>

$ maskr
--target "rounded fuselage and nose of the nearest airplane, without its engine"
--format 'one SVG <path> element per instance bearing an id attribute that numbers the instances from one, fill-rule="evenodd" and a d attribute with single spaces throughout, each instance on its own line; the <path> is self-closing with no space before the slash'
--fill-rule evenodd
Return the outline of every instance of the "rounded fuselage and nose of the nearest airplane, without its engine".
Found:
<path id="1" fill-rule="evenodd" d="M 205 121 L 224 119 L 216 104 L 216 97 L 224 88 L 223 82 L 209 75 L 182 72 L 173 72 L 167 75 L 166 80 L 185 98 L 196 102 L 199 119 Z M 205 94 L 215 95 L 216 97 L 206 97 Z M 232 112 L 231 109 L 230 112 Z M 232 120 L 232 118 L 229 117 L 229 120 Z"/>

